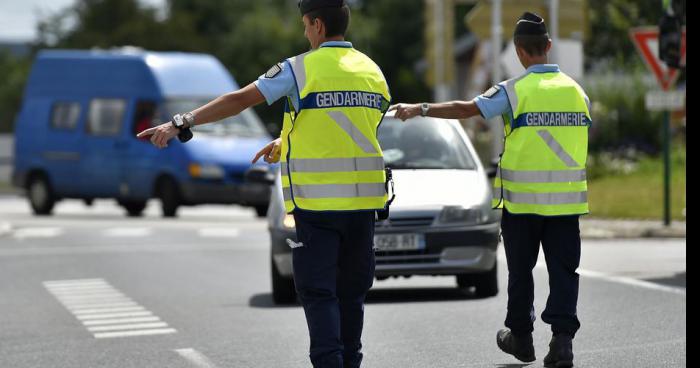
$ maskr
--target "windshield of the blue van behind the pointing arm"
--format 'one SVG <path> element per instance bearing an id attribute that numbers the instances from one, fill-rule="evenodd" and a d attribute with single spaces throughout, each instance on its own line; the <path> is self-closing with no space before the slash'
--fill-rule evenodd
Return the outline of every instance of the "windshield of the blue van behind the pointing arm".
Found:
<path id="1" fill-rule="evenodd" d="M 170 99 L 165 102 L 164 121 L 185 111 L 192 111 L 211 99 Z M 263 127 L 260 119 L 250 109 L 247 109 L 239 115 L 232 116 L 216 123 L 198 125 L 193 128 L 197 133 L 221 135 L 221 136 L 238 136 L 238 137 L 264 137 L 267 131 Z"/>

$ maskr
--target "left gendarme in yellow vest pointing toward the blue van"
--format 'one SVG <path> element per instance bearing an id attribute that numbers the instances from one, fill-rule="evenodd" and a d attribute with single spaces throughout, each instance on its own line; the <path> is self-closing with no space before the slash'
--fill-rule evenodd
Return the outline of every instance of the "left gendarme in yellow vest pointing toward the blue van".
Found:
<path id="1" fill-rule="evenodd" d="M 350 9 L 344 0 L 302 0 L 299 10 L 311 51 L 277 63 L 241 90 L 176 115 L 172 123 L 139 137 L 151 136 L 154 145 L 164 148 L 191 126 L 286 99 L 280 138 L 253 162 L 260 157 L 281 161 L 282 195 L 297 233 L 288 244 L 309 329 L 311 363 L 315 368 L 359 368 L 364 301 L 374 281 L 375 216 L 387 203 L 377 129 L 391 96 L 377 64 L 345 41 Z M 182 133 L 179 138 L 187 139 Z"/>

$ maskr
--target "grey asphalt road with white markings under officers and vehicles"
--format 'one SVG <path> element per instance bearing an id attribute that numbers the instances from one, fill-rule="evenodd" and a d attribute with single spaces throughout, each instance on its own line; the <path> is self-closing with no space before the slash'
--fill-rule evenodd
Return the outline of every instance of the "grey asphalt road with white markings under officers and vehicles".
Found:
<path id="1" fill-rule="evenodd" d="M 35 218 L 0 197 L 0 367 L 310 367 L 303 311 L 272 303 L 266 223 L 216 206 L 163 220 L 155 204 L 128 219 L 110 201 L 68 201 Z M 500 266 L 494 298 L 447 277 L 375 282 L 363 367 L 541 367 L 539 320 L 537 362 L 496 347 Z M 685 272 L 684 240 L 584 242 L 576 367 L 685 367 Z"/>

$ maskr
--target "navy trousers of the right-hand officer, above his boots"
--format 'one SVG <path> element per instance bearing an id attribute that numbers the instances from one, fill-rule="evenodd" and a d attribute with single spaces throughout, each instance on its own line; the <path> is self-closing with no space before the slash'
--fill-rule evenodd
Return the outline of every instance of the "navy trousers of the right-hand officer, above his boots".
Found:
<path id="1" fill-rule="evenodd" d="M 516 335 L 531 333 L 535 321 L 532 269 L 540 243 L 549 272 L 549 298 L 542 321 L 554 334 L 572 337 L 581 327 L 576 315 L 581 260 L 579 216 L 516 215 L 503 210 L 501 223 L 508 261 L 508 313 L 505 325 Z"/>

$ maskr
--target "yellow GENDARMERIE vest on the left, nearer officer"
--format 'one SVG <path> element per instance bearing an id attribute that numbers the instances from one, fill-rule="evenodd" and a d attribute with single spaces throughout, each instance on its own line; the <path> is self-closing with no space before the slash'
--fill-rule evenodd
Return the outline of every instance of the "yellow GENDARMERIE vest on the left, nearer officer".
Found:
<path id="1" fill-rule="evenodd" d="M 351 47 L 321 47 L 287 60 L 299 111 L 287 101 L 282 191 L 287 212 L 384 208 L 377 128 L 391 100 L 384 75 Z"/>

